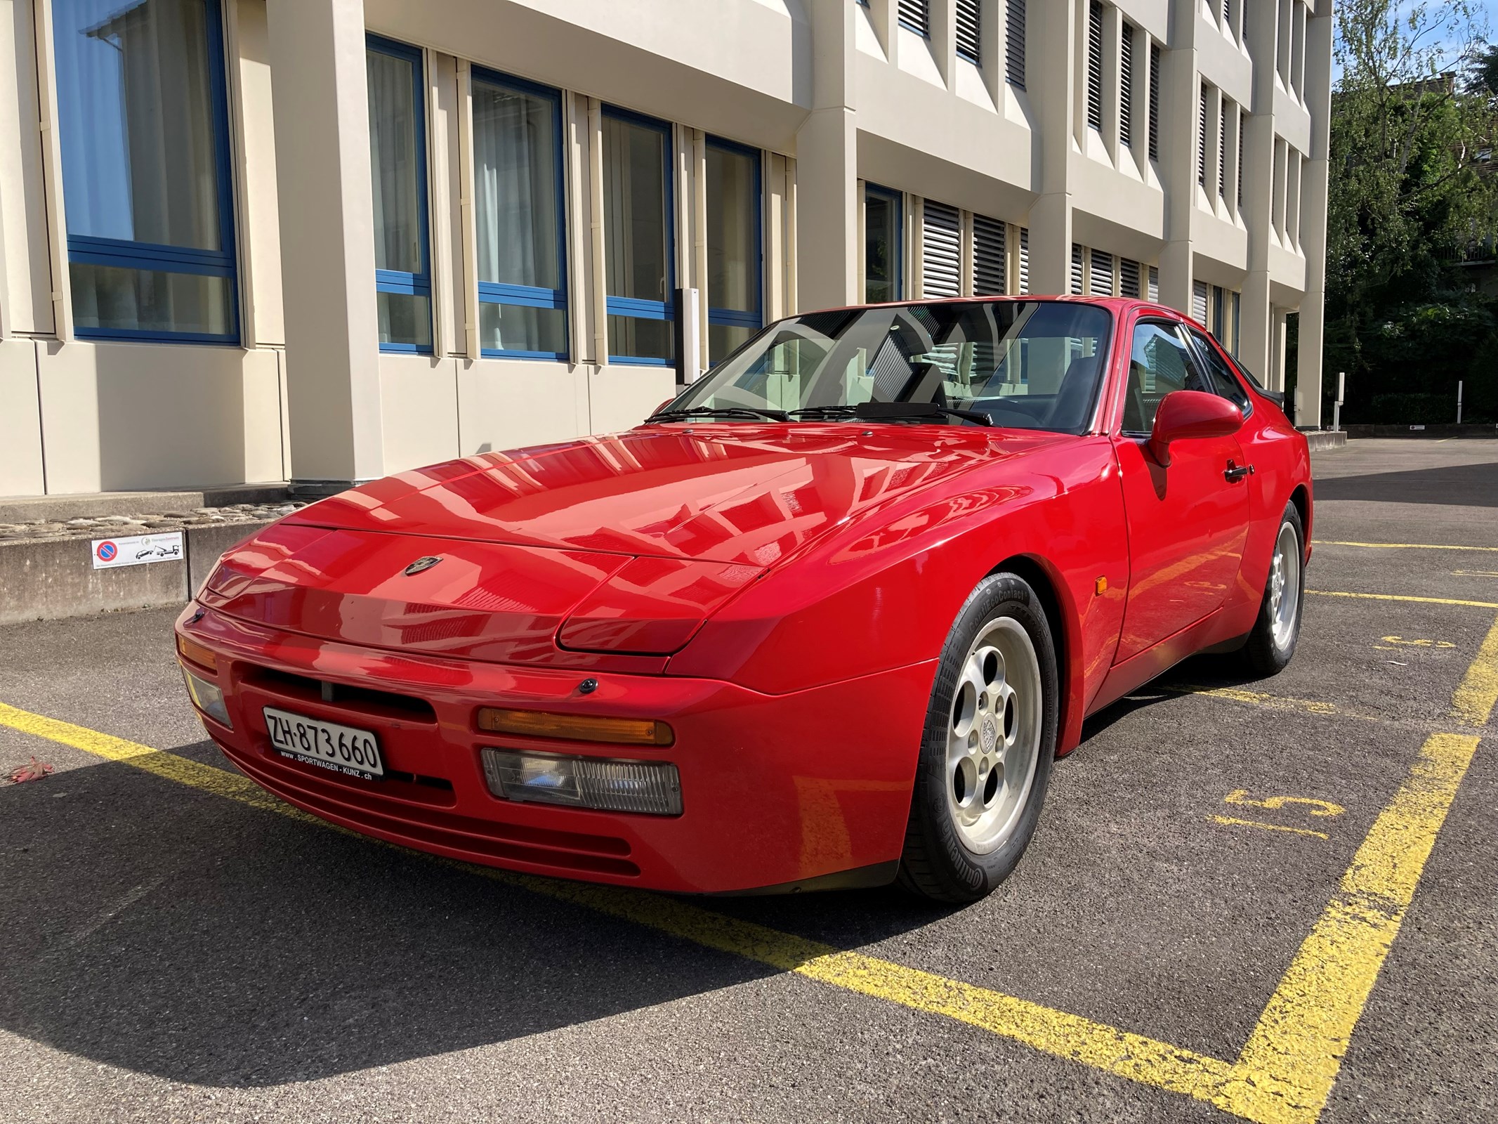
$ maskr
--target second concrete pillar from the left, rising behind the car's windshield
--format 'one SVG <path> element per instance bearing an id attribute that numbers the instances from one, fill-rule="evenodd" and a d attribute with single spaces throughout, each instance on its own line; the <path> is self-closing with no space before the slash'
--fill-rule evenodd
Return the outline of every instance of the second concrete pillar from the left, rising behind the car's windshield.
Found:
<path id="1" fill-rule="evenodd" d="M 846 0 L 810 0 L 812 112 L 795 133 L 797 309 L 858 300 L 858 129 L 854 19 Z"/>

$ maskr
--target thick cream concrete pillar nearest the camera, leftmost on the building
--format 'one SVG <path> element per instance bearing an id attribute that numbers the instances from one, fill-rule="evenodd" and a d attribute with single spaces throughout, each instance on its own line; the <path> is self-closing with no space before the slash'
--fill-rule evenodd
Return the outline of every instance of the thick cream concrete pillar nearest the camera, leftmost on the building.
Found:
<path id="1" fill-rule="evenodd" d="M 363 0 L 270 0 L 292 483 L 385 475 Z"/>

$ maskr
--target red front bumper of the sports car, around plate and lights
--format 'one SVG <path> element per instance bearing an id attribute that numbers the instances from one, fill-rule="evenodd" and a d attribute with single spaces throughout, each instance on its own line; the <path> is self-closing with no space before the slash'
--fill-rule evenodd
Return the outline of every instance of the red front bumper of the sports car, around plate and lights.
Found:
<path id="1" fill-rule="evenodd" d="M 530 874 L 688 893 L 795 886 L 863 868 L 893 872 L 935 661 L 762 695 L 734 683 L 580 673 L 355 647 L 189 605 L 181 635 L 217 656 L 193 665 L 225 694 L 234 728 L 204 727 L 247 776 L 331 823 L 421 851 Z M 581 694 L 586 677 L 598 689 Z M 319 683 L 337 685 L 327 701 Z M 392 773 L 364 781 L 286 760 L 264 706 L 376 733 Z M 481 706 L 650 718 L 668 748 L 488 734 Z M 484 746 L 667 760 L 679 817 L 515 803 L 484 781 Z"/>

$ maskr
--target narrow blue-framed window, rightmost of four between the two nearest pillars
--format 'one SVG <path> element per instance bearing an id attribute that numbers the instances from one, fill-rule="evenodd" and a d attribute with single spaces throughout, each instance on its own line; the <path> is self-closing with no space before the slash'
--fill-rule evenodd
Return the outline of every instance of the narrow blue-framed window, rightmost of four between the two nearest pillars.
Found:
<path id="1" fill-rule="evenodd" d="M 731 355 L 764 325 L 759 151 L 707 142 L 707 355 Z"/>

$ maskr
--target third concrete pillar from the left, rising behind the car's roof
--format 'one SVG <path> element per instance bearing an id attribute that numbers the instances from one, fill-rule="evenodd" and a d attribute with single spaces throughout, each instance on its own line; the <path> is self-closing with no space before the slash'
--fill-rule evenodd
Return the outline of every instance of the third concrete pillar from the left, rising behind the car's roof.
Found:
<path id="1" fill-rule="evenodd" d="M 1068 171 L 1076 135 L 1077 55 L 1076 34 L 1086 30 L 1077 22 L 1074 3 L 1029 4 L 1026 88 L 1041 138 L 1040 195 L 1031 204 L 1029 253 L 1031 292 L 1052 295 L 1070 291 L 1071 283 L 1071 190 Z"/>

